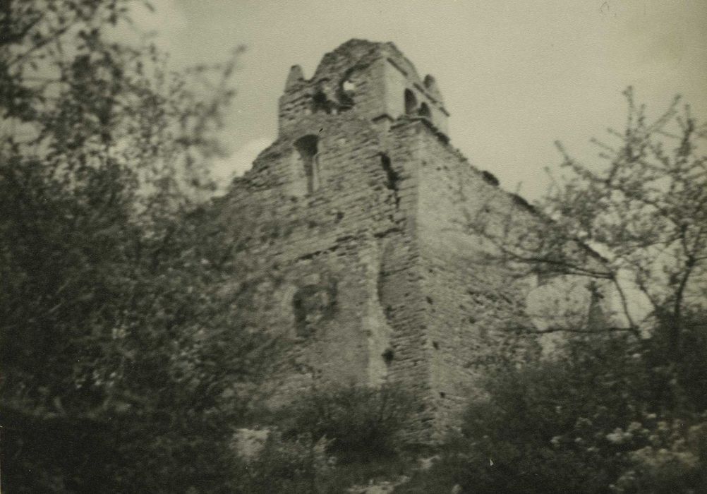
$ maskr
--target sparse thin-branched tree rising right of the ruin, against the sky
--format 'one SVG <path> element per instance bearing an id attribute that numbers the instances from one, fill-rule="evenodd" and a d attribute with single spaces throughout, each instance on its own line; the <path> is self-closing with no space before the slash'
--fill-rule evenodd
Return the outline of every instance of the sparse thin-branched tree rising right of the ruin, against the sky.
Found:
<path id="1" fill-rule="evenodd" d="M 700 147 L 707 127 L 688 106 L 679 111 L 679 98 L 650 120 L 631 88 L 624 95 L 626 129 L 609 129 L 613 141 L 593 140 L 598 163 L 580 163 L 558 145 L 566 175 L 554 178 L 534 208 L 537 221 L 511 210 L 503 228 L 479 221 L 469 228 L 496 246 L 497 260 L 527 272 L 606 280 L 625 321 L 607 329 L 665 329 L 677 356 L 685 317 L 707 294 L 707 157 Z M 633 290 L 650 304 L 648 314 L 636 311 Z"/>

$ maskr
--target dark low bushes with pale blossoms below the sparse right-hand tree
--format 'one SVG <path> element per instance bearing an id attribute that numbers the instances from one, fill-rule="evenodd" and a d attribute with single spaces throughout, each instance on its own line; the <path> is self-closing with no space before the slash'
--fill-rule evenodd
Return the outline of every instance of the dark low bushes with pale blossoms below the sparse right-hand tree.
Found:
<path id="1" fill-rule="evenodd" d="M 691 359 L 707 359 L 701 343 Z M 701 492 L 707 415 L 702 392 L 682 384 L 694 370 L 674 367 L 656 341 L 568 346 L 557 360 L 490 377 L 462 435 L 400 492 L 432 481 L 473 493 Z"/>

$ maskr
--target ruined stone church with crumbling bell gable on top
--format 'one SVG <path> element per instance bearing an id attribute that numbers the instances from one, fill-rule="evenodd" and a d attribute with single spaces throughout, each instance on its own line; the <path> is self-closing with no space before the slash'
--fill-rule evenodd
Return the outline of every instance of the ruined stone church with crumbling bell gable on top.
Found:
<path id="1" fill-rule="evenodd" d="M 448 116 L 435 78 L 392 43 L 350 40 L 309 79 L 290 69 L 276 141 L 221 206 L 250 259 L 249 324 L 286 342 L 269 399 L 397 382 L 433 437 L 503 351 L 489 288 L 503 280 L 463 223 L 530 206 L 450 144 Z"/>

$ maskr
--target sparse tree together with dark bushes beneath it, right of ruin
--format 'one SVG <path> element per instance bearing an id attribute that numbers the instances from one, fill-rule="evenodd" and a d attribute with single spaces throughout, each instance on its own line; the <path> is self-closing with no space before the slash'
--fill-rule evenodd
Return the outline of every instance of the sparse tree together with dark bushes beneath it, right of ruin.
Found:
<path id="1" fill-rule="evenodd" d="M 605 167 L 563 151 L 568 175 L 536 223 L 512 209 L 504 228 L 469 225 L 496 245 L 490 261 L 604 280 L 619 310 L 595 327 L 551 327 L 568 337 L 549 360 L 496 370 L 462 433 L 396 492 L 707 490 L 707 129 L 677 99 L 649 122 L 625 94 L 618 143 L 595 141 Z M 603 259 L 568 248 L 580 244 Z"/>

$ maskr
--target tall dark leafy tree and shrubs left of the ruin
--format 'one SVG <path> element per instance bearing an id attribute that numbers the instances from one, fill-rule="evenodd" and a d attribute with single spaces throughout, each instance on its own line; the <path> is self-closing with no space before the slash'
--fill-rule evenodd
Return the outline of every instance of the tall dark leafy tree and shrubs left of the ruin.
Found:
<path id="1" fill-rule="evenodd" d="M 235 59 L 170 72 L 153 45 L 115 41 L 131 4 L 0 5 L 2 481 L 13 492 L 233 481 L 234 384 L 259 342 L 218 291 L 235 274 L 232 246 L 197 199 Z"/>

